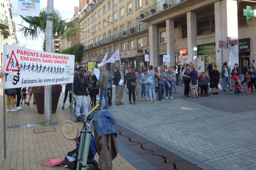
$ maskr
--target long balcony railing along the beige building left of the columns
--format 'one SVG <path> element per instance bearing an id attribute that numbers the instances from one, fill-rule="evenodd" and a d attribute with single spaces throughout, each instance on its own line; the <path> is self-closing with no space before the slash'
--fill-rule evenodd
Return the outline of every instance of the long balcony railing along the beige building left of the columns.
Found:
<path id="1" fill-rule="evenodd" d="M 107 38 L 105 38 L 103 40 L 94 42 L 94 47 L 98 47 L 100 45 L 103 45 L 103 44 L 106 44 L 106 43 L 109 43 L 109 42 L 113 42 L 113 41 L 122 39 L 124 37 L 129 36 L 129 35 L 136 34 L 136 33 L 140 32 L 140 31 L 144 31 L 144 30 L 147 30 L 147 29 L 148 29 L 148 23 L 142 23 L 140 25 L 137 25 L 137 26 L 131 27 L 129 29 L 126 29 L 126 30 L 124 30 L 122 32 L 119 32 L 119 33 L 117 33 L 117 34 L 115 34 L 113 36 L 107 37 Z M 85 46 L 84 50 L 88 50 L 90 48 L 93 48 L 93 44 Z"/>

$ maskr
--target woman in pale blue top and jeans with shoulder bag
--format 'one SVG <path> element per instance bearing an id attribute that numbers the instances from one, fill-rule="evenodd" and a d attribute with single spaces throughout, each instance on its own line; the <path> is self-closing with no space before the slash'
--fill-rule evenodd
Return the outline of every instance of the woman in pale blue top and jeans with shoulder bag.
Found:
<path id="1" fill-rule="evenodd" d="M 156 94 L 155 94 L 155 83 L 154 83 L 154 77 L 155 77 L 155 71 L 153 70 L 153 65 L 149 66 L 149 71 L 147 71 L 146 79 L 151 77 L 151 83 L 148 84 L 148 97 L 149 101 L 147 103 L 154 103 L 156 102 Z"/>

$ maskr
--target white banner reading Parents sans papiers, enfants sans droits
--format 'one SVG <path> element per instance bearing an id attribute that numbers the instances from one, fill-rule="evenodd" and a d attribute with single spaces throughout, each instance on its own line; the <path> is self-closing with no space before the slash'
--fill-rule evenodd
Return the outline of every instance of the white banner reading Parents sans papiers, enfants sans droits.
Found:
<path id="1" fill-rule="evenodd" d="M 3 88 L 72 83 L 74 55 L 3 45 Z"/>

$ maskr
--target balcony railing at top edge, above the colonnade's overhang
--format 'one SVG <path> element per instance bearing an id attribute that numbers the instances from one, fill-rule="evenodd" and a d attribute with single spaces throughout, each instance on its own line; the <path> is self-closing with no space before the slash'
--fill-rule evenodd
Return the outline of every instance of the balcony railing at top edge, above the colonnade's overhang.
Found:
<path id="1" fill-rule="evenodd" d="M 163 11 L 166 8 L 176 6 L 177 4 L 183 3 L 188 0 L 162 0 L 154 5 L 140 11 L 140 18 L 147 18 L 154 15 L 157 12 Z"/>

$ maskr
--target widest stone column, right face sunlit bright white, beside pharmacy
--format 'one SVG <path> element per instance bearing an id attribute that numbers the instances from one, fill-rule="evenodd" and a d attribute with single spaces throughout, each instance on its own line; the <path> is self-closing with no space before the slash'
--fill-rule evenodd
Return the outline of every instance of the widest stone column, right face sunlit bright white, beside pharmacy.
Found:
<path id="1" fill-rule="evenodd" d="M 231 60 L 230 68 L 233 69 L 234 63 L 239 63 L 238 45 L 229 45 L 229 50 L 219 49 L 218 41 L 224 41 L 226 37 L 238 40 L 237 2 L 233 0 L 218 1 L 214 3 L 214 11 L 216 64 L 220 70 L 223 62 L 228 62 L 229 54 L 232 53 L 233 60 Z"/>

